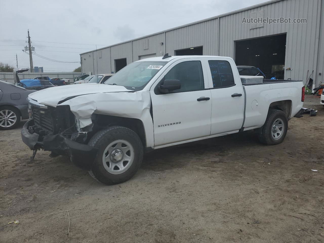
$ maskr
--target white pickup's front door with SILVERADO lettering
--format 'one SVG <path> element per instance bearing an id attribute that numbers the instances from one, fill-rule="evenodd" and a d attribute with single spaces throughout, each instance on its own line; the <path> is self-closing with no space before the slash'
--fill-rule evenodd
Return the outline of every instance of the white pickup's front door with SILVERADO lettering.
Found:
<path id="1" fill-rule="evenodd" d="M 179 80 L 181 87 L 161 93 L 164 80 Z M 210 135 L 212 100 L 206 68 L 199 58 L 171 64 L 150 90 L 154 145 L 163 146 Z"/>

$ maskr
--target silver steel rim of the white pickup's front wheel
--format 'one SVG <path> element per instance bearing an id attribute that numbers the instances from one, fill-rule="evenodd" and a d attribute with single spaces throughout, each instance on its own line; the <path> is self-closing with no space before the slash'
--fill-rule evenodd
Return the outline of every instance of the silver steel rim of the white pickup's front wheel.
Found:
<path id="1" fill-rule="evenodd" d="M 103 151 L 102 165 L 110 174 L 119 175 L 131 167 L 134 156 L 131 143 L 123 139 L 115 140 Z"/>

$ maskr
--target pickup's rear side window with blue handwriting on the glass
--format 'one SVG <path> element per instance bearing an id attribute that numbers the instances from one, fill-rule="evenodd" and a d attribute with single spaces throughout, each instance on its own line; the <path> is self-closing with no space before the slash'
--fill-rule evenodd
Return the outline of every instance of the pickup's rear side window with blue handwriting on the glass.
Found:
<path id="1" fill-rule="evenodd" d="M 234 86 L 234 77 L 231 65 L 227 61 L 208 61 L 212 74 L 214 88 Z"/>

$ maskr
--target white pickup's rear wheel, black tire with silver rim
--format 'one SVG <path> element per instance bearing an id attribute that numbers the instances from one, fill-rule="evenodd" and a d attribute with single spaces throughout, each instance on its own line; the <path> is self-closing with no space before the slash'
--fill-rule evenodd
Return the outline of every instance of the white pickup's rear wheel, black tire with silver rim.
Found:
<path id="1" fill-rule="evenodd" d="M 266 145 L 276 145 L 284 141 L 288 129 L 288 119 L 282 110 L 270 109 L 259 133 L 259 141 Z"/>

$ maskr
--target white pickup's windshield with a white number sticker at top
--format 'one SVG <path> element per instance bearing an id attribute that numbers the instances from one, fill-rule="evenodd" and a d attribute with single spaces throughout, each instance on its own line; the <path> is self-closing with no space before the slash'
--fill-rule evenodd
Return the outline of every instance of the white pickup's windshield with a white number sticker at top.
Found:
<path id="1" fill-rule="evenodd" d="M 165 64 L 167 62 L 134 62 L 111 76 L 104 84 L 120 85 L 134 91 L 142 90 Z"/>

